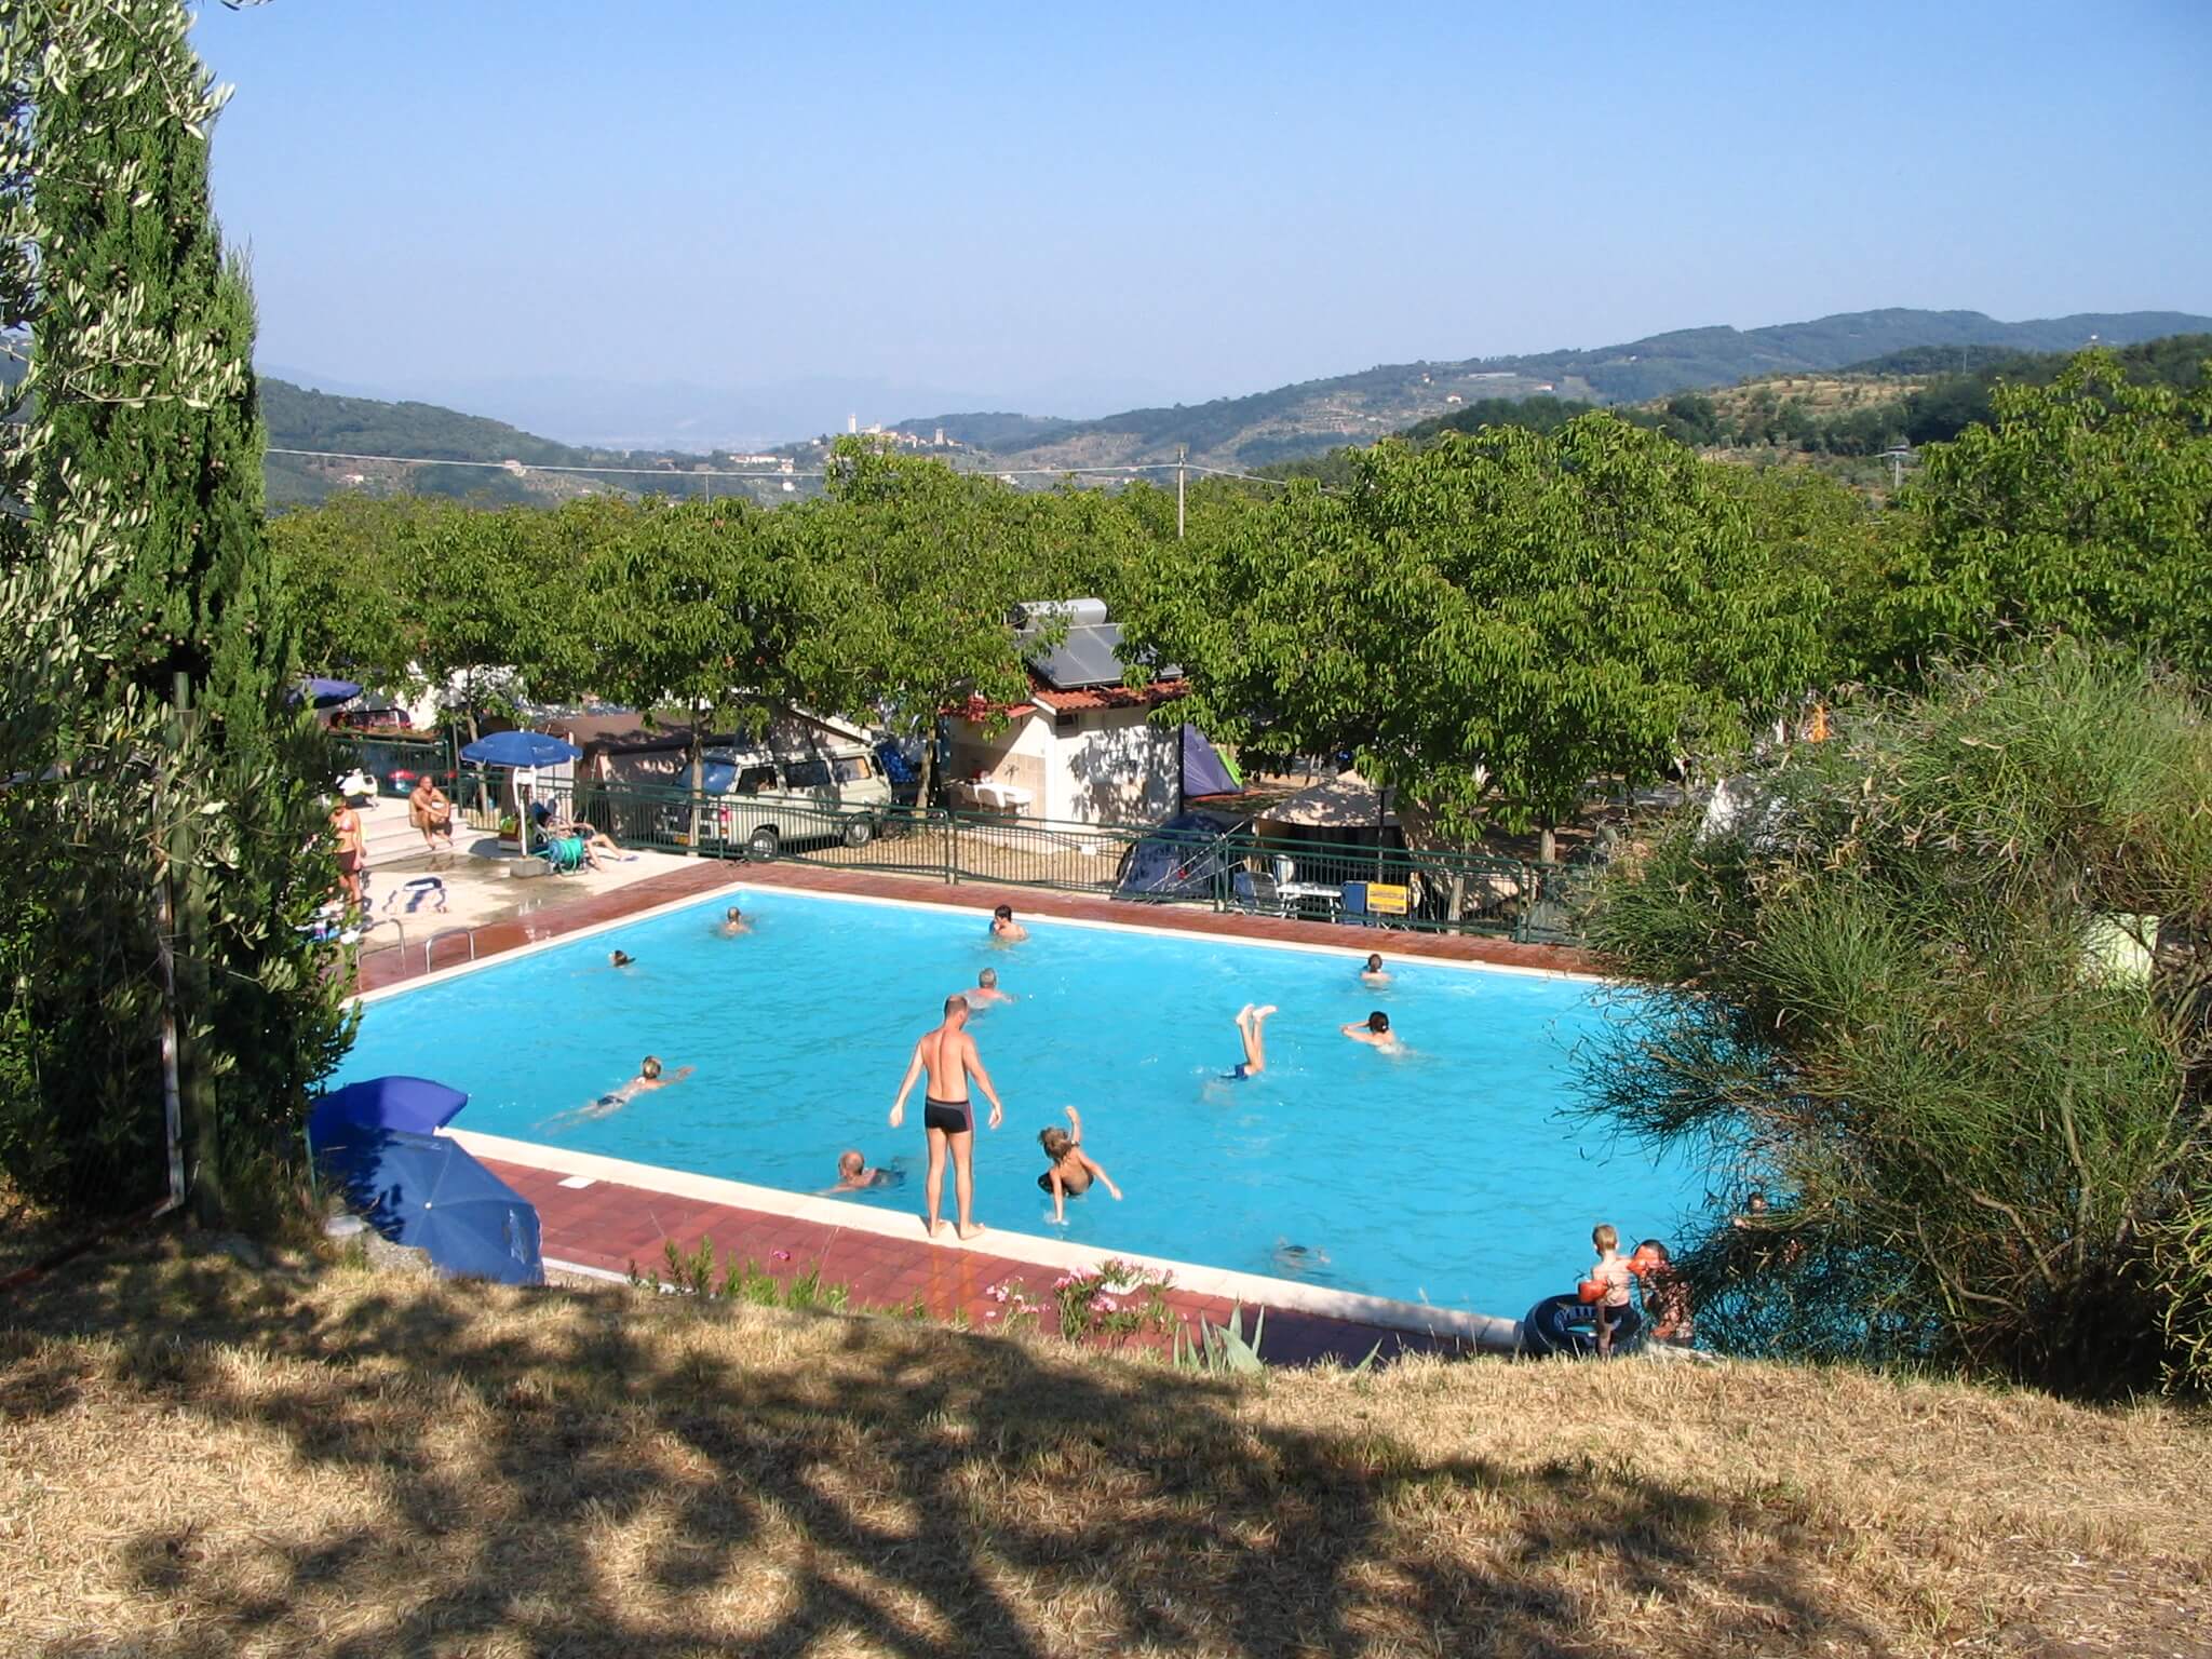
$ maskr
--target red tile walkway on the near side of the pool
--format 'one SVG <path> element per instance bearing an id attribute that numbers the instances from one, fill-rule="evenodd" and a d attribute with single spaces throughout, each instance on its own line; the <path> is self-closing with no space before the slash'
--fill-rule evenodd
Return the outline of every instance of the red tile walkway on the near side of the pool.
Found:
<path id="1" fill-rule="evenodd" d="M 717 1276 L 732 1261 L 752 1261 L 785 1283 L 814 1270 L 825 1285 L 843 1285 L 856 1310 L 905 1312 L 920 1303 L 931 1318 L 967 1318 L 975 1329 L 993 1329 L 1006 1318 L 1006 1305 L 989 1292 L 998 1285 L 1020 1285 L 1040 1310 L 1040 1327 L 1046 1332 L 1060 1327 L 1053 1301 L 1057 1267 L 998 1256 L 980 1245 L 938 1248 L 920 1237 L 907 1241 L 832 1228 L 615 1181 L 566 1188 L 564 1177 L 553 1170 L 484 1161 L 538 1206 L 540 1243 L 549 1261 L 617 1274 L 635 1265 L 639 1274 L 657 1270 L 668 1276 L 668 1243 L 688 1254 L 701 1239 L 712 1239 Z M 920 1234 L 920 1219 L 914 1228 Z M 1170 1290 L 1166 1301 L 1170 1318 L 1181 1321 L 1192 1336 L 1201 1316 L 1219 1325 L 1230 1314 L 1230 1303 L 1221 1296 Z M 1245 1334 L 1252 1329 L 1252 1305 L 1245 1305 Z M 1166 1349 L 1172 1334 L 1133 1336 L 1128 1343 Z M 1467 1347 L 1453 1336 L 1400 1332 L 1290 1307 L 1270 1307 L 1261 1334 L 1261 1354 L 1270 1365 L 1314 1365 L 1325 1358 L 1356 1365 L 1378 1345 L 1380 1358 Z"/>

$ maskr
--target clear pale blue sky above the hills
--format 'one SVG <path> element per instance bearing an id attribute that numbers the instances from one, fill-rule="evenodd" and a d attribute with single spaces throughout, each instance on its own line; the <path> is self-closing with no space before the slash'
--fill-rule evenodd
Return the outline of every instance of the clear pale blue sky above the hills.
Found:
<path id="1" fill-rule="evenodd" d="M 261 358 L 1102 414 L 1874 305 L 2212 312 L 2199 0 L 1071 11 L 208 4 Z"/>

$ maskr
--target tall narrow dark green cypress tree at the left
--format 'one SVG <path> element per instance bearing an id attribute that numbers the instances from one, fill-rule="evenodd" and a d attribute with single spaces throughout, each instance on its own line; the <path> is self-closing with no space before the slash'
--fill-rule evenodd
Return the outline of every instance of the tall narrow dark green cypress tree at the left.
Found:
<path id="1" fill-rule="evenodd" d="M 27 100 L 31 540 L 122 509 L 80 606 L 119 626 L 55 743 L 75 832 L 33 845 L 11 883 L 40 927 L 13 951 L 0 938 L 18 969 L 0 1075 L 29 1088 L 0 1102 L 0 1157 L 62 1197 L 159 1188 L 168 1006 L 206 1214 L 296 1148 L 307 1086 L 343 1044 L 341 987 L 299 931 L 332 874 L 316 849 L 327 757 L 285 701 L 252 301 L 210 210 L 206 122 L 177 117 L 208 82 L 188 18 L 175 0 L 46 11 L 71 13 L 77 53 Z M 38 821 L 18 807 L 18 827 Z M 164 891 L 179 900 L 168 929 Z"/>

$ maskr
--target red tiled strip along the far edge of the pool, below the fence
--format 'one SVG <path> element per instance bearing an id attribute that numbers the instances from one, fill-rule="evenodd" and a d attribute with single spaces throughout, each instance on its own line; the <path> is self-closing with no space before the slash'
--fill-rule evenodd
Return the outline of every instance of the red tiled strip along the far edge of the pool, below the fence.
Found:
<path id="1" fill-rule="evenodd" d="M 1079 922 L 1119 922 L 1124 927 L 1161 927 L 1177 933 L 1265 940 L 1281 945 L 1321 945 L 1340 951 L 1374 951 L 1385 956 L 1416 958 L 1429 962 L 1484 962 L 1489 967 L 1537 969 L 1548 973 L 1599 973 L 1601 964 L 1590 951 L 1568 945 L 1520 945 L 1515 940 L 1475 938 L 1467 933 L 1416 933 L 1411 929 L 1365 929 L 1343 922 L 1301 922 L 1276 916 L 1239 916 L 1181 905 L 1128 905 L 1086 894 L 1040 891 L 1033 887 L 1000 887 L 991 883 L 940 883 L 920 876 L 891 876 L 869 869 L 823 869 L 816 865 L 772 863 L 739 865 L 721 858 L 701 858 L 697 865 L 646 876 L 608 894 L 580 896 L 568 905 L 553 905 L 531 916 L 504 922 L 487 922 L 471 929 L 476 960 L 502 956 L 562 938 L 602 922 L 617 922 L 624 916 L 655 909 L 684 898 L 701 898 L 723 887 L 790 887 L 794 891 L 845 894 L 854 898 L 898 898 L 909 905 L 940 905 L 947 909 L 989 911 L 995 905 L 1011 905 L 1020 916 L 1051 916 Z M 445 967 L 458 967 L 456 953 L 445 958 Z M 427 973 L 420 958 L 389 949 L 363 956 L 356 975 L 356 991 L 380 991 L 405 984 Z"/>

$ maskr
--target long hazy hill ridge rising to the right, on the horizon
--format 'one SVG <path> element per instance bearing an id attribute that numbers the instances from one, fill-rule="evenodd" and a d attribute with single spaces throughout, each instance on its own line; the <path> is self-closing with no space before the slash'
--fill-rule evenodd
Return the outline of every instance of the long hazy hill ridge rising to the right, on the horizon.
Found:
<path id="1" fill-rule="evenodd" d="M 1391 363 L 1360 374 L 1217 398 L 1168 409 L 1128 409 L 1099 420 L 1048 422 L 1031 436 L 1009 416 L 991 449 L 1009 467 L 1115 467 L 1190 460 L 1210 467 L 1259 467 L 1367 442 L 1420 420 L 1453 416 L 1491 398 L 1557 396 L 1584 403 L 1644 403 L 1672 392 L 1734 385 L 1770 374 L 1825 374 L 1911 347 L 1958 352 L 2077 349 L 2095 334 L 2110 345 L 2212 330 L 2212 316 L 2185 312 L 2081 312 L 2028 323 L 2000 323 L 1982 312 L 1880 310 L 1845 312 L 1774 327 L 1694 327 L 1652 334 L 1599 349 L 1458 363 Z M 947 434 L 956 416 L 947 416 Z M 916 422 L 920 425 L 920 422 Z M 1042 425 L 1042 422 L 1040 422 Z"/>

